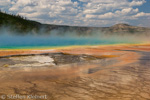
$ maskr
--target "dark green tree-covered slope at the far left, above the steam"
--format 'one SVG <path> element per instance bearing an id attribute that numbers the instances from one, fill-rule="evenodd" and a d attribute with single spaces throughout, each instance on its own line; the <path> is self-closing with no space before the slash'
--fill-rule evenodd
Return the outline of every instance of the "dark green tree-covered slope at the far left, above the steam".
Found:
<path id="1" fill-rule="evenodd" d="M 9 27 L 12 31 L 26 33 L 38 31 L 40 23 L 28 20 L 27 18 L 0 11 L 0 27 Z"/>

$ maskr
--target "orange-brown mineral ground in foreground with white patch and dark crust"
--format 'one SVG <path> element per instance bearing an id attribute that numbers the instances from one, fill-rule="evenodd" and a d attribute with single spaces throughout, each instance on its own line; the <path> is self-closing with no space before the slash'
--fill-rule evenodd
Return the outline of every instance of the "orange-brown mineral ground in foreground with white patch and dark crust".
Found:
<path id="1" fill-rule="evenodd" d="M 46 95 L 47 100 L 150 100 L 150 46 L 1 56 L 0 98 L 16 94 Z"/>

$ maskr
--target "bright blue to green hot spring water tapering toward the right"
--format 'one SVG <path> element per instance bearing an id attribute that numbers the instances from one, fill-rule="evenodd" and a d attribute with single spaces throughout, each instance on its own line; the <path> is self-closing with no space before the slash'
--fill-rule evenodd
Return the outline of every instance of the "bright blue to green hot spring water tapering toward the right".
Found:
<path id="1" fill-rule="evenodd" d="M 101 37 L 75 36 L 35 36 L 35 35 L 0 35 L 0 49 L 30 49 L 40 47 L 60 47 L 74 45 L 120 44 L 125 41 L 103 39 Z"/>

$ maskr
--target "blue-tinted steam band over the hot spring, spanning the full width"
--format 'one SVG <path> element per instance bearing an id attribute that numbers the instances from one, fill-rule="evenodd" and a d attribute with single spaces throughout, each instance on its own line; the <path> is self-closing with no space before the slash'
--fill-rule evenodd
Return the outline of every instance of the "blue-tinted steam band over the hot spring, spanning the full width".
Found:
<path id="1" fill-rule="evenodd" d="M 50 32 L 41 30 L 38 33 L 20 34 L 11 32 L 8 27 L 1 27 L 0 48 L 150 43 L 150 34 L 107 34 L 99 30 L 92 30 L 89 34 L 79 34 L 76 30 L 64 31 L 62 29 L 55 29 Z"/>

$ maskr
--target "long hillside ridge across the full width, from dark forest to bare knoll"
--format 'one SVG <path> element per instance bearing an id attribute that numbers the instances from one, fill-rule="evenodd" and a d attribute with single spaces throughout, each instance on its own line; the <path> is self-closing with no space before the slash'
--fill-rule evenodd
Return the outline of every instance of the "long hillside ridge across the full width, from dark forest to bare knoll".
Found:
<path id="1" fill-rule="evenodd" d="M 116 24 L 111 27 L 78 27 L 78 26 L 63 26 L 63 25 L 50 25 L 41 24 L 36 21 L 27 20 L 19 15 L 10 15 L 0 12 L 0 28 L 9 28 L 11 32 L 17 34 L 52 34 L 53 32 L 58 35 L 72 33 L 77 35 L 91 35 L 93 33 L 105 34 L 120 34 L 120 33 L 149 33 L 150 28 L 130 26 L 128 24 Z"/>

